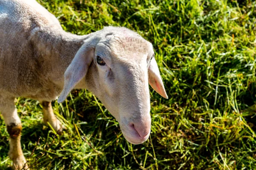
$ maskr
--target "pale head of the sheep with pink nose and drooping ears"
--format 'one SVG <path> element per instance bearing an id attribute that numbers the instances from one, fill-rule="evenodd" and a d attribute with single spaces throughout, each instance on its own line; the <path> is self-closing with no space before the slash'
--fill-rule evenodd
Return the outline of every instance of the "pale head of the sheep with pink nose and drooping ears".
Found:
<path id="1" fill-rule="evenodd" d="M 69 90 L 74 87 L 68 85 L 74 82 L 72 77 L 83 79 L 86 88 L 117 119 L 125 139 L 140 144 L 148 139 L 151 128 L 148 82 L 159 94 L 165 98 L 167 95 L 151 43 L 126 28 L 113 32 L 103 31 L 90 48 L 81 47 L 79 56 L 87 57 L 74 61 L 76 54 L 65 72 L 64 91 L 66 87 Z M 79 75 L 79 72 L 86 73 Z"/>

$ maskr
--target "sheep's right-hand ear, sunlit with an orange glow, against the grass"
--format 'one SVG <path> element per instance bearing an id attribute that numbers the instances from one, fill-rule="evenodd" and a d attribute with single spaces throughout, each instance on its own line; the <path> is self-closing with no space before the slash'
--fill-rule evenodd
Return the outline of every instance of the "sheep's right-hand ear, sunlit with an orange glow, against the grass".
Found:
<path id="1" fill-rule="evenodd" d="M 168 99 L 163 81 L 160 76 L 160 71 L 157 66 L 157 61 L 154 59 L 154 57 L 151 59 L 148 67 L 148 82 L 158 94 Z"/>

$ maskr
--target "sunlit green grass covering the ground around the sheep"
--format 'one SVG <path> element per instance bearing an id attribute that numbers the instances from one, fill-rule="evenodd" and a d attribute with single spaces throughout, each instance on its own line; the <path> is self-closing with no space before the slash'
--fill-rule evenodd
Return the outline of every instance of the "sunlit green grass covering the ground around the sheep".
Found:
<path id="1" fill-rule="evenodd" d="M 67 127 L 63 136 L 43 124 L 39 102 L 18 98 L 32 169 L 256 169 L 256 107 L 249 108 L 256 103 L 255 1 L 39 2 L 74 34 L 125 26 L 152 42 L 169 99 L 151 88 L 151 138 L 132 145 L 88 91 L 52 103 Z M 0 116 L 4 170 L 12 163 L 8 140 Z"/>

